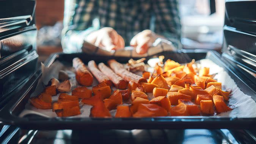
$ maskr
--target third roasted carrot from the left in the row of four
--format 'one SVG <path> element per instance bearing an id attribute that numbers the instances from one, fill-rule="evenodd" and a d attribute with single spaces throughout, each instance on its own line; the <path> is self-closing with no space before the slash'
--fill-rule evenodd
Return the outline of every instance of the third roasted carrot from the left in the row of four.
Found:
<path id="1" fill-rule="evenodd" d="M 115 74 L 115 72 L 113 72 L 113 70 L 107 67 L 104 63 L 99 63 L 99 69 L 103 74 L 107 75 L 107 77 L 114 83 L 116 88 L 126 89 L 128 85 L 127 82 L 119 75 Z"/>

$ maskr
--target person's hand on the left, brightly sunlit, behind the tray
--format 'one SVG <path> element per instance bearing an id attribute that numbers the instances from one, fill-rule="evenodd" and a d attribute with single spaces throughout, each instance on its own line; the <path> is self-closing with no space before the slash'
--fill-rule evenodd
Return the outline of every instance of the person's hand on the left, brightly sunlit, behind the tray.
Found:
<path id="1" fill-rule="evenodd" d="M 124 39 L 110 27 L 90 33 L 85 40 L 108 51 L 124 48 Z"/>

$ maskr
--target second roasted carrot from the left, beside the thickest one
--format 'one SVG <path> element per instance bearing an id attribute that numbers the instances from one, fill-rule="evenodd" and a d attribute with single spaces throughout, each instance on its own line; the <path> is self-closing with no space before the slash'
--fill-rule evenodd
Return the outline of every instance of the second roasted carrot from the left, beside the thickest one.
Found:
<path id="1" fill-rule="evenodd" d="M 91 73 L 93 73 L 94 77 L 96 77 L 96 79 L 99 81 L 99 83 L 105 82 L 108 86 L 112 86 L 110 79 L 99 69 L 97 69 L 95 61 L 89 61 L 88 68 L 90 69 Z"/>

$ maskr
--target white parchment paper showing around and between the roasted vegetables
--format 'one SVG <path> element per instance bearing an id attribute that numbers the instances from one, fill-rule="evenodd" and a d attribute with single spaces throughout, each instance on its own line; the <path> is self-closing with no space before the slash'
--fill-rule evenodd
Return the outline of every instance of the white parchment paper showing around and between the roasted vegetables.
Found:
<path id="1" fill-rule="evenodd" d="M 251 99 L 251 96 L 244 94 L 240 89 L 237 87 L 236 83 L 234 80 L 231 79 L 231 77 L 228 75 L 227 72 L 224 71 L 224 69 L 217 64 L 215 64 L 213 61 L 210 59 L 202 59 L 199 61 L 198 64 L 199 67 L 210 67 L 210 74 L 215 74 L 214 79 L 216 79 L 218 82 L 222 83 L 222 89 L 232 89 L 231 92 L 231 97 L 228 101 L 228 105 L 231 108 L 234 108 L 231 111 L 221 113 L 215 116 L 210 116 L 210 117 L 256 117 L 256 102 L 254 102 L 253 99 Z M 38 81 L 38 86 L 36 87 L 35 92 L 31 94 L 31 97 L 34 97 L 38 94 L 40 94 L 43 91 L 43 84 L 46 85 L 48 81 L 51 78 L 58 78 L 58 72 L 60 70 L 65 70 L 70 77 L 70 81 L 72 84 L 72 89 L 78 86 L 77 81 L 75 80 L 75 74 L 72 72 L 72 67 L 65 67 L 61 62 L 56 61 L 54 62 L 49 68 L 45 67 L 42 64 L 42 78 Z M 149 68 L 149 71 L 151 71 L 152 68 Z M 139 74 L 141 75 L 141 74 Z M 94 78 L 93 86 L 97 85 L 97 80 Z M 91 89 L 92 87 L 88 87 Z M 113 91 L 116 90 L 113 88 Z M 69 92 L 71 94 L 71 92 Z M 59 94 L 58 94 L 59 95 Z M 52 100 L 57 101 L 58 100 L 58 95 L 53 96 Z M 152 99 L 153 95 L 152 93 L 147 93 L 149 100 Z M 124 105 L 130 105 L 131 101 L 125 101 Z M 90 109 L 92 106 L 90 105 L 85 105 L 82 102 L 80 102 L 80 111 L 81 114 L 78 116 L 73 116 L 73 117 L 89 117 L 90 115 Z M 110 111 L 112 116 L 115 116 L 116 110 Z M 25 106 L 25 110 L 20 113 L 20 117 L 23 117 L 27 114 L 38 114 L 40 116 L 44 117 L 57 117 L 55 112 L 52 112 L 52 110 L 40 110 L 37 109 L 33 106 L 30 105 L 28 102 Z M 72 117 L 70 117 L 72 118 Z"/>

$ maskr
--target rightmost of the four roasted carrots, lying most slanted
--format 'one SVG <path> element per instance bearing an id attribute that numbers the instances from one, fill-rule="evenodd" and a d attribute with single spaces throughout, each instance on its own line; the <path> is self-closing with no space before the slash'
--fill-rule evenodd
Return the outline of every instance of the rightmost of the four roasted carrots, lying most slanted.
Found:
<path id="1" fill-rule="evenodd" d="M 135 83 L 148 82 L 146 78 L 133 74 L 132 72 L 124 69 L 124 66 L 118 63 L 115 59 L 110 59 L 108 61 L 108 65 L 116 74 L 120 75 L 126 81 L 134 81 Z"/>

